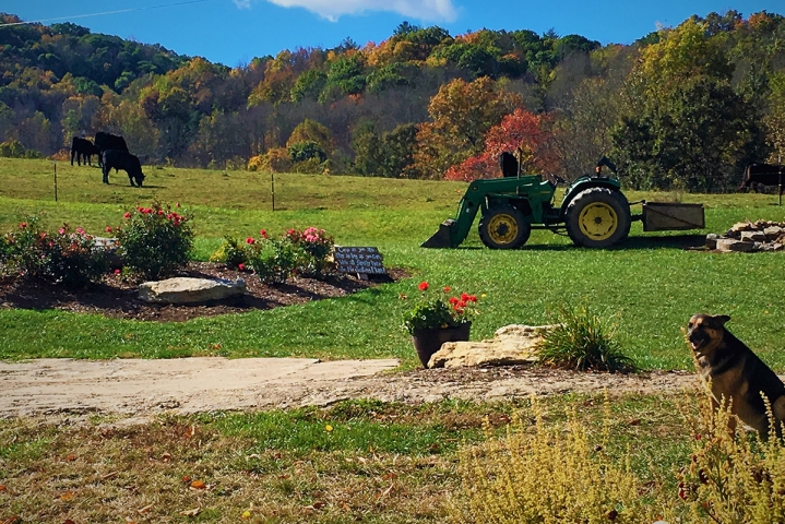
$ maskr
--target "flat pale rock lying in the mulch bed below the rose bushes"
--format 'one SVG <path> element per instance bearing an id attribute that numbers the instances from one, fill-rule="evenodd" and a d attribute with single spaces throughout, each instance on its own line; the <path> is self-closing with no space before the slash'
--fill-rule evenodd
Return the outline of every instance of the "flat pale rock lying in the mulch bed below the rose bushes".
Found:
<path id="1" fill-rule="evenodd" d="M 139 298 L 158 303 L 205 302 L 243 293 L 246 293 L 246 281 L 242 278 L 228 281 L 180 276 L 165 281 L 145 282 L 139 286 Z"/>

